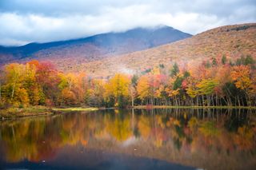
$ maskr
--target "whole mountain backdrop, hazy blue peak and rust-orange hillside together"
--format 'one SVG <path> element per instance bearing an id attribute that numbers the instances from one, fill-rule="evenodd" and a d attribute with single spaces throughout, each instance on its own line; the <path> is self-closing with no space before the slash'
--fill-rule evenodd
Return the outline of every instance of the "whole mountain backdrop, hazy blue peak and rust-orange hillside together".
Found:
<path id="1" fill-rule="evenodd" d="M 168 67 L 174 62 L 183 63 L 185 66 L 198 65 L 202 61 L 222 57 L 224 54 L 228 60 L 234 60 L 241 55 L 251 55 L 256 59 L 256 23 L 221 26 L 188 37 L 189 34 L 170 27 L 155 30 L 135 29 L 78 40 L 30 44 L 16 47 L 15 50 L 2 48 L 0 51 L 13 57 L 13 61 L 52 61 L 64 72 L 84 71 L 92 77 L 136 73 L 159 64 Z M 167 44 L 170 39 L 178 38 L 183 39 Z M 45 46 L 45 49 L 38 50 L 38 46 Z M 27 50 L 36 52 L 30 55 L 32 57 L 17 54 L 22 51 L 28 53 Z"/>

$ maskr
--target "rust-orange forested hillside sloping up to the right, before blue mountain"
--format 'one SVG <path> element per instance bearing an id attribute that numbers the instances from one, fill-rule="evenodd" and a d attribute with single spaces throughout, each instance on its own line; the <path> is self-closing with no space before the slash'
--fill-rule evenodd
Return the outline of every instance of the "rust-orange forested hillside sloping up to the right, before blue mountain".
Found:
<path id="1" fill-rule="evenodd" d="M 228 60 L 250 54 L 256 58 L 256 24 L 222 26 L 207 30 L 192 38 L 161 45 L 101 61 L 54 61 L 62 70 L 83 70 L 93 76 L 108 76 L 116 72 L 134 73 L 153 65 L 172 65 L 174 61 L 197 65 L 211 57 L 226 54 Z M 79 63 L 79 64 L 78 64 Z"/>

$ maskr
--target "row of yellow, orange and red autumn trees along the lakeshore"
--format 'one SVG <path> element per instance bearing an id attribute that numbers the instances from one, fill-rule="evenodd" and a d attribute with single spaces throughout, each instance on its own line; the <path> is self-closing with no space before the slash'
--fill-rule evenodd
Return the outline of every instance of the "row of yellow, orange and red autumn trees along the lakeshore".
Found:
<path id="1" fill-rule="evenodd" d="M 0 74 L 0 107 L 134 105 L 255 106 L 255 61 L 226 55 L 191 66 L 160 64 L 141 73 L 108 79 L 62 73 L 49 61 L 5 65 Z"/>

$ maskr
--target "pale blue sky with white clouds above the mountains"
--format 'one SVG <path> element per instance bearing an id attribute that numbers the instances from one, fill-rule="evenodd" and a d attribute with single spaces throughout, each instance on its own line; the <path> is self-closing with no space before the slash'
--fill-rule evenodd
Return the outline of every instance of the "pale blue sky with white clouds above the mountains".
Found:
<path id="1" fill-rule="evenodd" d="M 0 0 L 0 45 L 82 38 L 135 27 L 198 34 L 256 22 L 255 0 Z"/>

